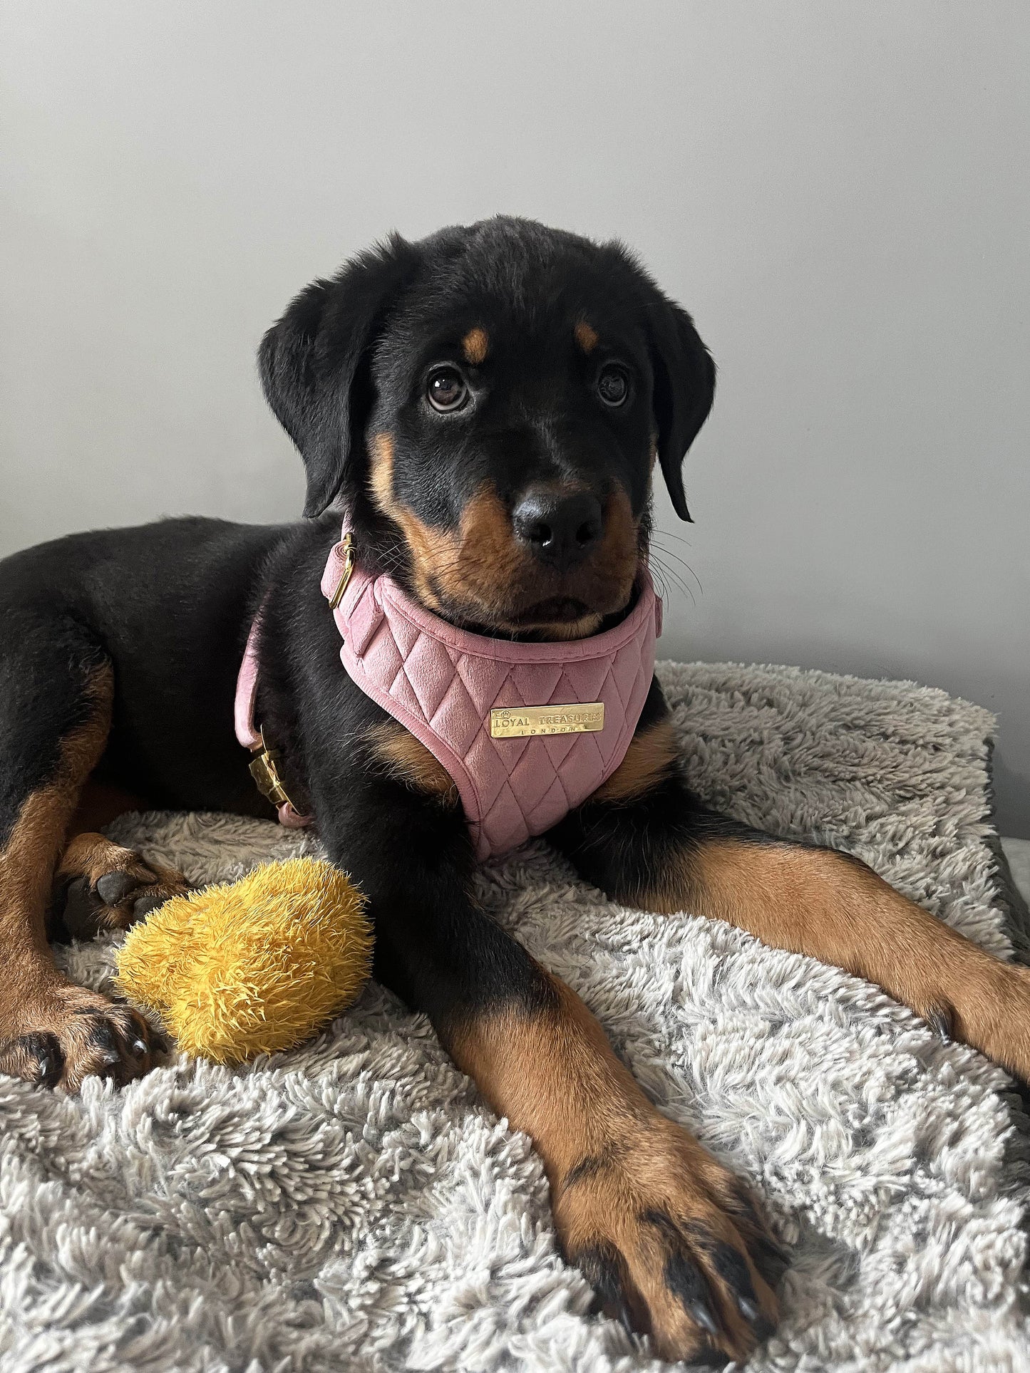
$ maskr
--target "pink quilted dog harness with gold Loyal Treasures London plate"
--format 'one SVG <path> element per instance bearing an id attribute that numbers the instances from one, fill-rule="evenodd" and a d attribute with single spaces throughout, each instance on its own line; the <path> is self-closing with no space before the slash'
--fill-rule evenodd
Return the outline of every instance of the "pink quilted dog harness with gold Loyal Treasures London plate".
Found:
<path id="1" fill-rule="evenodd" d="M 343 640 L 343 667 L 450 774 L 479 858 L 544 833 L 625 758 L 662 632 L 662 601 L 645 570 L 622 623 L 567 643 L 516 644 L 448 625 L 390 577 L 364 573 L 346 524 L 321 590 Z M 262 748 L 255 695 L 257 621 L 235 711 L 236 737 L 251 750 Z M 279 803 L 279 818 L 310 821 L 288 800 Z"/>

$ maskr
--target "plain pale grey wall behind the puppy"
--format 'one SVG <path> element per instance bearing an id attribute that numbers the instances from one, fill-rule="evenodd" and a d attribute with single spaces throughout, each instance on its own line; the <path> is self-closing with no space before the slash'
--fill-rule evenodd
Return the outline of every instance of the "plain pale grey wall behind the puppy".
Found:
<path id="1" fill-rule="evenodd" d="M 0 553 L 299 511 L 254 347 L 390 228 L 618 235 L 721 367 L 665 651 L 997 710 L 1030 835 L 1027 73 L 1025 0 L 10 0 Z"/>

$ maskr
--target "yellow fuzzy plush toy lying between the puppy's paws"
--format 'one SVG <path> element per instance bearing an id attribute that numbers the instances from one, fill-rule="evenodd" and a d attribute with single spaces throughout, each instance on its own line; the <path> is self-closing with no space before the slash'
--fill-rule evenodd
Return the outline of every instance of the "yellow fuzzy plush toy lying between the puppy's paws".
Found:
<path id="1" fill-rule="evenodd" d="M 290 858 L 166 901 L 129 931 L 117 982 L 180 1049 L 243 1063 L 308 1039 L 371 967 L 361 894 L 332 864 Z"/>

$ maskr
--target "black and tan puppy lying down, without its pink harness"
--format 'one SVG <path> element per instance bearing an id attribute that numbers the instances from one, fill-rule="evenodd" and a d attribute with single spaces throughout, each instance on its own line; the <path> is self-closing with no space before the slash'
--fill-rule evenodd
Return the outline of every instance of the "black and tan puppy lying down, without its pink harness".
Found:
<path id="1" fill-rule="evenodd" d="M 655 461 L 687 518 L 709 354 L 621 247 L 499 218 L 393 239 L 316 281 L 266 335 L 261 373 L 306 464 L 305 520 L 166 520 L 0 564 L 0 1068 L 76 1090 L 150 1067 L 143 1020 L 65 980 L 47 941 L 124 928 L 179 888 L 95 832 L 126 792 L 271 814 L 232 728 L 262 605 L 258 717 L 371 899 L 376 976 L 533 1137 L 564 1251 L 606 1308 L 667 1357 L 740 1358 L 776 1319 L 776 1247 L 746 1189 L 477 908 L 450 778 L 342 671 L 319 590 L 346 501 L 360 557 L 446 619 L 537 638 L 615 623 Z M 549 839 L 615 901 L 838 964 L 1030 1075 L 1030 975 L 861 862 L 706 810 L 656 684 L 625 761 Z"/>

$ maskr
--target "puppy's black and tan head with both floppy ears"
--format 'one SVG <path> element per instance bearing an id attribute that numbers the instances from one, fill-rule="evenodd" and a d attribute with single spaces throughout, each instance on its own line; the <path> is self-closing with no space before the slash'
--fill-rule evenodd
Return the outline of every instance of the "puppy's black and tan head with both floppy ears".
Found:
<path id="1" fill-rule="evenodd" d="M 394 236 L 302 291 L 260 365 L 305 515 L 345 501 L 360 556 L 455 623 L 575 638 L 625 610 L 655 460 L 689 519 L 716 368 L 618 243 L 515 218 Z"/>

